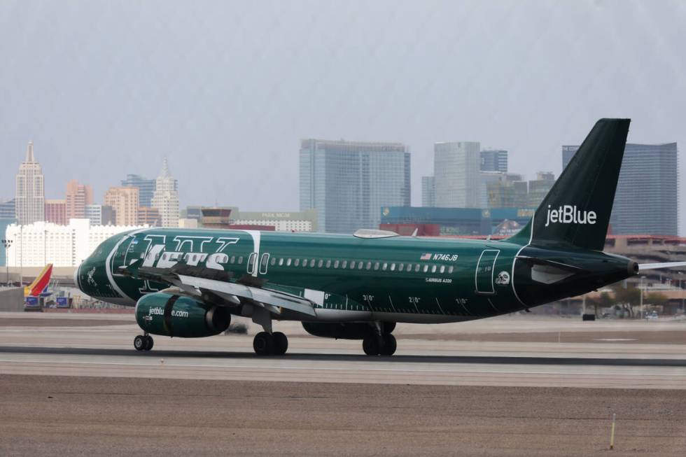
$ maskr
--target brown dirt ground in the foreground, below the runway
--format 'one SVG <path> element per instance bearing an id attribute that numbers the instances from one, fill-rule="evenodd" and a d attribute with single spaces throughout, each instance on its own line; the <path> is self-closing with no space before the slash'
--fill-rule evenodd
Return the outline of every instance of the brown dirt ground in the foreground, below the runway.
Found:
<path id="1" fill-rule="evenodd" d="M 685 423 L 686 391 L 0 374 L 2 456 L 683 456 Z"/>

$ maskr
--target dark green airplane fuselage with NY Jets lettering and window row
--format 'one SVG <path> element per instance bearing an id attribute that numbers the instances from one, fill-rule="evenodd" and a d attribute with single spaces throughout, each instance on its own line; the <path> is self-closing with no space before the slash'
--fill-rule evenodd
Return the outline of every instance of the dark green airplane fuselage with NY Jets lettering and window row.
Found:
<path id="1" fill-rule="evenodd" d="M 517 260 L 532 249 L 537 258 L 585 262 L 596 276 L 605 268 L 604 283 L 629 276 L 625 258 L 508 241 L 155 228 L 105 241 L 78 269 L 77 281 L 92 297 L 134 306 L 167 285 L 124 276 L 120 267 L 139 259 L 158 269 L 182 262 L 227 272 L 230 281 L 305 297 L 316 304 L 312 321 L 411 323 L 507 314 L 598 286 L 536 283 L 532 294 L 531 267 Z M 285 312 L 280 318 L 297 317 Z"/>

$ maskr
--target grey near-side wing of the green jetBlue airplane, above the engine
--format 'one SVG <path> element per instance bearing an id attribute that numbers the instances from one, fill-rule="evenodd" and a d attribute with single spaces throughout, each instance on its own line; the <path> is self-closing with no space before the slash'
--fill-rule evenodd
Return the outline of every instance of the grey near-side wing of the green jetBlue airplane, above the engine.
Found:
<path id="1" fill-rule="evenodd" d="M 219 270 L 189 267 L 177 264 L 172 268 L 141 267 L 137 260 L 128 267 L 120 267 L 120 273 L 140 279 L 167 283 L 183 290 L 188 295 L 206 302 L 223 306 L 254 304 L 274 314 L 288 309 L 309 316 L 316 316 L 316 304 L 307 298 L 291 295 L 269 288 L 250 286 L 230 281 L 230 274 Z M 216 303 L 217 298 L 221 303 Z"/>

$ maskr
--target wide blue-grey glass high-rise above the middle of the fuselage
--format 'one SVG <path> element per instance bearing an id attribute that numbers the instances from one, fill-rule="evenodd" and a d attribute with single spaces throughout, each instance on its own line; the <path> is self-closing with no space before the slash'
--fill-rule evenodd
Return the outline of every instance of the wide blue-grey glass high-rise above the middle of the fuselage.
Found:
<path id="1" fill-rule="evenodd" d="M 409 206 L 409 148 L 402 143 L 303 139 L 300 211 L 317 210 L 317 230 L 377 228 L 381 206 Z"/>

